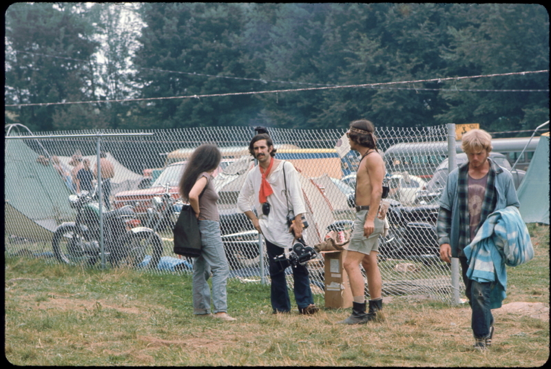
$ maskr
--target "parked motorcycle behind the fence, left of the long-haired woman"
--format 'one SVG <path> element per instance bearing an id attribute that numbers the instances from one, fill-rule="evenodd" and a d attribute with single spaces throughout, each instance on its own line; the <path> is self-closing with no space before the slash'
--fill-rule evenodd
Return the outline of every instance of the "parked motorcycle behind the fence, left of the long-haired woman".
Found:
<path id="1" fill-rule="evenodd" d="M 52 240 L 54 256 L 67 264 L 95 265 L 101 259 L 99 203 L 96 190 L 89 194 L 72 194 L 70 206 L 76 209 L 76 220 L 57 227 Z M 141 227 L 134 209 L 103 210 L 103 244 L 105 260 L 114 267 L 155 269 L 163 256 L 163 241 L 149 227 Z"/>

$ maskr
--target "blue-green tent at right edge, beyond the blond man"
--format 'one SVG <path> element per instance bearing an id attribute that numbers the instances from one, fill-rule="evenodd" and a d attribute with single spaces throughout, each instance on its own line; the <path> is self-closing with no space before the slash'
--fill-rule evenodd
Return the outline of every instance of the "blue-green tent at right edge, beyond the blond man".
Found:
<path id="1" fill-rule="evenodd" d="M 525 223 L 549 224 L 549 133 L 541 135 L 517 194 Z"/>

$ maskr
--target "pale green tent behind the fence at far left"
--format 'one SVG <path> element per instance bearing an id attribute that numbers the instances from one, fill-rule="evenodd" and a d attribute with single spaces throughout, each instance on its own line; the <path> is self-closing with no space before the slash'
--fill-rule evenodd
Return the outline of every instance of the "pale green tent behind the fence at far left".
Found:
<path id="1" fill-rule="evenodd" d="M 8 235 L 49 241 L 63 221 L 74 219 L 63 177 L 22 139 L 6 139 L 4 227 Z"/>

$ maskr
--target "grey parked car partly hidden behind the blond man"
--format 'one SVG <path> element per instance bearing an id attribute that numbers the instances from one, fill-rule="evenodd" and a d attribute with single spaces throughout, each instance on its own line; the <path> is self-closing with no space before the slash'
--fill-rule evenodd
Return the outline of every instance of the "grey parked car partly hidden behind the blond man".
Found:
<path id="1" fill-rule="evenodd" d="M 494 153 L 490 151 L 490 157 L 493 161 L 496 162 L 497 165 L 511 172 L 514 181 L 514 188 L 519 188 L 522 179 L 524 178 L 524 175 L 526 175 L 526 172 L 524 170 L 518 169 L 511 171 L 511 164 L 509 163 L 507 157 L 501 153 Z M 460 166 L 465 161 L 467 161 L 466 153 L 459 153 L 456 155 L 455 162 L 457 166 Z M 433 178 L 431 178 L 430 181 L 426 183 L 426 186 L 419 190 L 415 202 L 418 204 L 428 204 L 438 201 L 440 199 L 441 190 L 446 187 L 447 181 L 448 159 L 444 159 L 444 161 L 442 161 L 436 168 Z"/>

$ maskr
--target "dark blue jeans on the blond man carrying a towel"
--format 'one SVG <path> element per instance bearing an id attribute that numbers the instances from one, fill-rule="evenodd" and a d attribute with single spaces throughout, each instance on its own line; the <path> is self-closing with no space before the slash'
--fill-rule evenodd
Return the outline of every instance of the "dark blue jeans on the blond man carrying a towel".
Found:
<path id="1" fill-rule="evenodd" d="M 470 326 L 472 335 L 475 338 L 485 338 L 490 334 L 490 326 L 494 323 L 492 310 L 490 309 L 490 291 L 491 282 L 479 283 L 467 278 L 467 269 L 469 267 L 467 258 L 459 257 L 461 262 L 461 274 L 465 283 L 465 294 L 469 300 L 472 311 Z"/>

